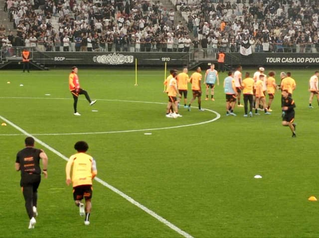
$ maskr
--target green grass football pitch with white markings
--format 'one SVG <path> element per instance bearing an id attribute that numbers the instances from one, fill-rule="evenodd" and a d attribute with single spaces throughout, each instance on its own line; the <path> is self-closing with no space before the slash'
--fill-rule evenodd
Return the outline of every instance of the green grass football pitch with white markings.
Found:
<path id="1" fill-rule="evenodd" d="M 237 116 L 226 117 L 226 72 L 219 75 L 215 101 L 204 101 L 203 93 L 204 112 L 195 101 L 191 112 L 181 107 L 183 117 L 169 119 L 162 69 L 139 70 L 134 86 L 134 70 L 79 68 L 81 88 L 98 100 L 89 106 L 81 95 L 80 117 L 73 115 L 69 68 L 0 71 L 0 123 L 6 123 L 0 126 L 0 237 L 319 237 L 319 204 L 308 201 L 319 197 L 317 100 L 308 108 L 315 69 L 275 71 L 277 84 L 281 71 L 292 72 L 297 83 L 296 138 L 281 125 L 279 91 L 272 115 L 244 118 L 236 107 Z M 32 230 L 14 170 L 26 135 L 49 157 Z M 65 184 L 65 159 L 78 140 L 88 142 L 98 169 L 90 226 Z"/>

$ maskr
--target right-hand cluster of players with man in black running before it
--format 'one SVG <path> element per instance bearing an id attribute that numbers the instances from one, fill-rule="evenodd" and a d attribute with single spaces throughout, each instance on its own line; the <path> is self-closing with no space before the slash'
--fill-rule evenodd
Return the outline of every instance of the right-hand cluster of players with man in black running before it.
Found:
<path id="1" fill-rule="evenodd" d="M 277 85 L 274 78 L 274 71 L 270 71 L 268 73 L 269 77 L 267 77 L 265 69 L 263 67 L 259 67 L 258 71 L 254 73 L 253 78 L 250 77 L 249 72 L 246 72 L 244 79 L 242 79 L 241 71 L 242 67 L 238 66 L 234 73 L 228 73 L 228 77 L 224 81 L 224 91 L 226 94 L 226 116 L 236 116 L 233 109 L 237 99 L 238 107 L 244 107 L 244 117 L 248 117 L 248 115 L 249 117 L 253 117 L 253 109 L 255 109 L 255 115 L 260 115 L 258 110 L 263 110 L 265 115 L 271 115 L 271 105 L 275 97 L 275 92 L 280 89 L 282 91 L 282 124 L 284 126 L 289 126 L 293 133 L 292 137 L 296 137 L 296 124 L 294 123 L 294 108 L 296 105 L 292 99 L 293 92 L 296 89 L 296 81 L 291 77 L 291 73 L 287 72 L 286 74 L 285 72 L 281 72 L 281 83 Z M 240 104 L 241 91 L 243 91 L 244 106 Z M 268 94 L 268 103 L 266 102 L 266 91 Z M 318 92 L 318 90 L 316 90 L 316 92 Z M 248 102 L 250 106 L 249 113 Z"/>

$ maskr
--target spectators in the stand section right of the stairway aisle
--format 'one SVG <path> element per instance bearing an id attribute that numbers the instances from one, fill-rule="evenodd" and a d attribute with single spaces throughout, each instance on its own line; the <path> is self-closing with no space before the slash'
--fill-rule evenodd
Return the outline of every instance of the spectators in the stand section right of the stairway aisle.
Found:
<path id="1" fill-rule="evenodd" d="M 208 51 L 238 52 L 248 44 L 252 52 L 319 52 L 318 1 L 185 1 L 176 8 L 187 7 L 188 29 Z"/>

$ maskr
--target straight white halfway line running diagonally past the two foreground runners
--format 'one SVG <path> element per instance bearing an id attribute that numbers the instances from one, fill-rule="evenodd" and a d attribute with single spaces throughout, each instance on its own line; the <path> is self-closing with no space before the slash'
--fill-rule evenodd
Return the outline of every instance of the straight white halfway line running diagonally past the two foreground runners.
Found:
<path id="1" fill-rule="evenodd" d="M 48 144 L 44 143 L 43 141 L 39 140 L 38 138 L 34 137 L 32 134 L 26 132 L 25 130 L 23 130 L 21 127 L 17 126 L 16 124 L 14 124 L 13 122 L 11 122 L 10 120 L 0 116 L 0 119 L 4 120 L 6 123 L 8 123 L 9 125 L 11 125 L 12 127 L 14 127 L 15 129 L 17 129 L 18 131 L 22 132 L 24 135 L 26 136 L 32 136 L 34 138 L 34 140 L 41 144 L 42 146 L 44 146 L 45 148 L 49 149 L 50 151 L 52 151 L 54 154 L 56 154 L 57 156 L 61 157 L 62 159 L 68 161 L 68 158 L 61 154 L 59 151 L 57 151 L 56 149 L 52 148 L 51 146 L 49 146 Z M 118 190 L 117 188 L 113 187 L 112 185 L 108 184 L 107 182 L 103 181 L 102 179 L 95 177 L 95 180 L 99 183 L 101 183 L 102 185 L 104 185 L 105 187 L 109 188 L 110 190 L 112 190 L 113 192 L 115 192 L 116 194 L 120 195 L 121 197 L 125 198 L 127 201 L 129 201 L 130 203 L 134 204 L 135 206 L 137 206 L 138 208 L 142 209 L 144 212 L 146 212 L 147 214 L 151 215 L 152 217 L 154 217 L 155 219 L 157 219 L 158 221 L 160 221 L 161 223 L 165 224 L 167 227 L 169 227 L 170 229 L 172 229 L 173 231 L 177 232 L 178 234 L 180 234 L 181 236 L 185 237 L 185 238 L 193 238 L 191 235 L 189 235 L 188 233 L 182 231 L 181 229 L 179 229 L 178 227 L 176 227 L 174 224 L 168 222 L 166 219 L 164 219 L 163 217 L 161 217 L 160 215 L 158 215 L 157 213 L 153 212 L 152 210 L 148 209 L 147 207 L 143 206 L 142 204 L 140 204 L 139 202 L 135 201 L 133 198 L 131 198 L 130 196 L 126 195 L 125 193 L 121 192 L 120 190 Z"/>

